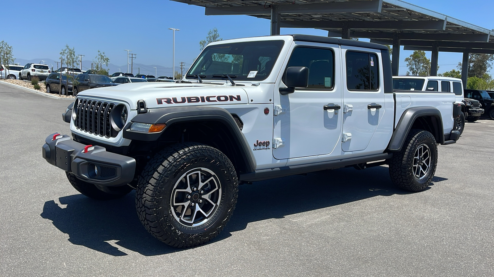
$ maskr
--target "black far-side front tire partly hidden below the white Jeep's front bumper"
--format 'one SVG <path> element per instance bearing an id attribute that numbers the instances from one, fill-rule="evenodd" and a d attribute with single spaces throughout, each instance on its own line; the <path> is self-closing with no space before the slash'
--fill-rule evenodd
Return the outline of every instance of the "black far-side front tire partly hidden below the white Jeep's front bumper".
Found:
<path id="1" fill-rule="evenodd" d="M 79 180 L 71 173 L 67 173 L 70 184 L 83 195 L 96 200 L 113 200 L 127 195 L 132 188 L 128 185 L 121 187 L 103 187 Z"/>

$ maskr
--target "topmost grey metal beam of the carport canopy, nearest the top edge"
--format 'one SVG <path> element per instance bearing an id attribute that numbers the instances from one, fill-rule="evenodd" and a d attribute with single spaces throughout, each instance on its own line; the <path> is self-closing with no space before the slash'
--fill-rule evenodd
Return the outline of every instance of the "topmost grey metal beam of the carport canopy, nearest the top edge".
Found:
<path id="1" fill-rule="evenodd" d="M 228 2 L 224 2 L 228 3 Z M 348 2 L 310 3 L 310 4 L 280 4 L 278 13 L 355 13 L 355 12 L 381 12 L 382 0 L 361 0 Z M 270 8 L 264 5 L 230 6 L 230 7 L 206 7 L 206 15 L 257 15 L 271 14 Z"/>

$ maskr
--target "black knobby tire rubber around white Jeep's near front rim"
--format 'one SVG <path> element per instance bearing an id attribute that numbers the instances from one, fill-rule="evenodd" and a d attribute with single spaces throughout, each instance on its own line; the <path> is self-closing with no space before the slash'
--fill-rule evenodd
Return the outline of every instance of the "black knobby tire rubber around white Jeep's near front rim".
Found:
<path id="1" fill-rule="evenodd" d="M 181 180 L 189 180 L 187 173 L 200 168 L 215 174 L 221 197 L 216 209 L 206 216 L 206 222 L 185 226 L 172 211 L 172 196 L 177 195 L 173 191 Z M 238 186 L 235 168 L 218 149 L 199 143 L 174 144 L 158 152 L 140 174 L 135 198 L 137 214 L 146 230 L 158 240 L 174 247 L 197 246 L 215 238 L 225 227 L 237 204 Z M 184 214 L 190 205 L 182 208 Z M 195 208 L 200 205 L 204 204 Z"/>

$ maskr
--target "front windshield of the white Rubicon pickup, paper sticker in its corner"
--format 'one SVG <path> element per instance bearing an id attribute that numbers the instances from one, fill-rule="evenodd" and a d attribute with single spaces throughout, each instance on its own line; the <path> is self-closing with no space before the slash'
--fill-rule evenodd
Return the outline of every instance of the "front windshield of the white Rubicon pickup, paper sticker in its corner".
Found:
<path id="1" fill-rule="evenodd" d="M 207 46 L 187 73 L 203 79 L 261 81 L 271 73 L 280 55 L 283 40 L 248 41 Z M 195 77 L 197 78 L 197 77 Z"/>

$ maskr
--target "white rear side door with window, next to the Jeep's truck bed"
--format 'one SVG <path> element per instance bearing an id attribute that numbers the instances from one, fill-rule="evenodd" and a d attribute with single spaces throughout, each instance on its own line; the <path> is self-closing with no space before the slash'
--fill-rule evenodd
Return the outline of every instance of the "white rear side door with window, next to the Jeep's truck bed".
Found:
<path id="1" fill-rule="evenodd" d="M 379 50 L 341 46 L 343 76 L 343 134 L 345 152 L 368 149 L 384 113 L 384 83 Z"/>

